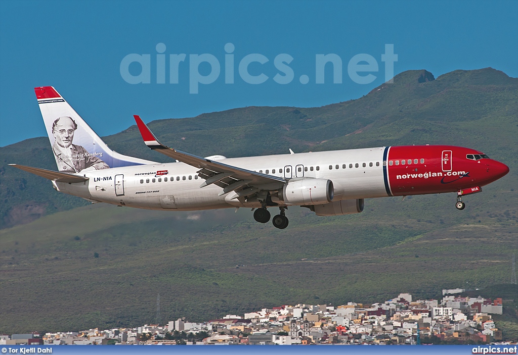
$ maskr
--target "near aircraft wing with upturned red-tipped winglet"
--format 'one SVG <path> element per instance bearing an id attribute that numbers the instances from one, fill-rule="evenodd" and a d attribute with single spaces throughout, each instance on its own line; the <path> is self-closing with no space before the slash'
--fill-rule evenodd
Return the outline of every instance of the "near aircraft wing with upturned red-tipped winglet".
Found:
<path id="1" fill-rule="evenodd" d="M 200 170 L 197 172 L 199 177 L 205 179 L 200 188 L 215 184 L 223 191 L 220 195 L 224 195 L 231 191 L 239 191 L 234 198 L 251 195 L 258 190 L 277 190 L 281 188 L 286 180 L 284 178 L 257 173 L 248 169 L 243 169 L 237 166 L 228 165 L 219 161 L 210 160 L 194 156 L 183 151 L 169 148 L 160 143 L 148 126 L 142 121 L 138 115 L 133 116 L 137 122 L 138 129 L 144 140 L 144 143 L 162 154 L 176 159 L 182 163 L 197 167 Z M 247 189 L 247 187 L 249 187 Z"/>

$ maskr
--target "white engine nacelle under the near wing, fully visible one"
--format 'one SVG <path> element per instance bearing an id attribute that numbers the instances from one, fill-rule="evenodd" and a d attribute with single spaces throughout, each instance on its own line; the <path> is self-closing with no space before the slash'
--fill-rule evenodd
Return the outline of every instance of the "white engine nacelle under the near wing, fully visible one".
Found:
<path id="1" fill-rule="evenodd" d="M 279 197 L 290 205 L 317 205 L 331 202 L 334 195 L 333 181 L 302 179 L 286 183 Z"/>

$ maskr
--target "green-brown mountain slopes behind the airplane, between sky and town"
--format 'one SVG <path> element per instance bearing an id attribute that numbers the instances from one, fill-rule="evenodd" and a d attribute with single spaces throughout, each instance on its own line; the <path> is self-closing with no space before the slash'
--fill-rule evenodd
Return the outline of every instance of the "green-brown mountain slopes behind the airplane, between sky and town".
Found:
<path id="1" fill-rule="evenodd" d="M 368 199 L 350 216 L 290 208 L 290 226 L 279 230 L 246 209 L 87 206 L 6 166 L 55 169 L 47 138 L 0 148 L 0 333 L 150 323 L 158 293 L 162 322 L 201 321 L 282 304 L 379 302 L 399 292 L 437 298 L 442 288 L 509 283 L 518 254 L 518 80 L 490 68 L 433 79 L 407 71 L 348 102 L 246 107 L 149 126 L 163 143 L 200 156 L 445 143 L 509 165 L 506 177 L 468 196 L 463 211 L 454 194 Z M 143 145 L 135 126 L 105 138 L 120 153 L 167 161 Z M 501 319 L 508 338 L 518 321 L 513 307 L 506 303 Z"/>

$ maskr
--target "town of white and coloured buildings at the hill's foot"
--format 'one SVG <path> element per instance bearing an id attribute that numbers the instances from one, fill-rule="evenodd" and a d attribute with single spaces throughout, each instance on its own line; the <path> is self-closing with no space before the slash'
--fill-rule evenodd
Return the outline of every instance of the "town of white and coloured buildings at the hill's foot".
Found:
<path id="1" fill-rule="evenodd" d="M 0 345 L 501 343 L 493 315 L 502 314 L 502 299 L 455 295 L 462 291 L 443 290 L 442 300 L 400 294 L 368 305 L 282 305 L 202 323 L 180 318 L 137 328 L 0 335 Z"/>

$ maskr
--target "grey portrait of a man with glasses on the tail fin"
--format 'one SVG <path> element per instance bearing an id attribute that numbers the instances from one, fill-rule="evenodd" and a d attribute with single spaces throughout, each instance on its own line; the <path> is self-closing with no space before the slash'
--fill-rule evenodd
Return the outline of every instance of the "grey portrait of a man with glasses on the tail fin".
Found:
<path id="1" fill-rule="evenodd" d="M 76 121 L 69 116 L 56 118 L 52 124 L 52 151 L 59 171 L 82 173 L 109 168 L 101 159 L 102 153 L 89 153 L 82 146 L 73 144 L 77 128 Z"/>

